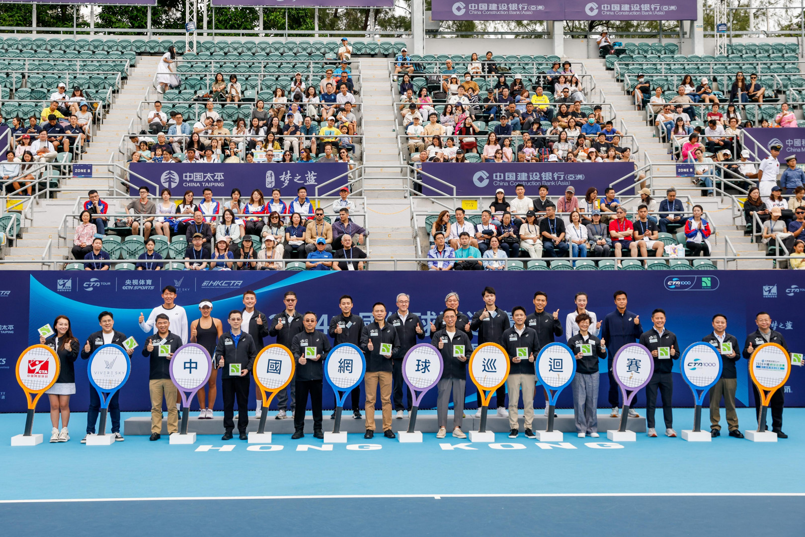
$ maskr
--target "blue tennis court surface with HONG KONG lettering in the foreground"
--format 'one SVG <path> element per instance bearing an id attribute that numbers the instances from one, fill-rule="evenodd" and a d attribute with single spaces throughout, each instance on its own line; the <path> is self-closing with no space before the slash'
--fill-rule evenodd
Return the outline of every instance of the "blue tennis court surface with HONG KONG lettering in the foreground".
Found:
<path id="1" fill-rule="evenodd" d="M 753 410 L 738 412 L 741 429 L 749 428 Z M 705 410 L 705 423 L 706 415 Z M 35 521 L 42 535 L 68 530 L 72 519 L 75 527 L 89 531 L 91 514 L 101 512 L 121 517 L 118 533 L 126 520 L 153 519 L 153 527 L 162 528 L 187 516 L 188 529 L 212 532 L 206 535 L 218 531 L 218 522 L 210 520 L 217 517 L 205 515 L 211 512 L 224 521 L 232 514 L 229 523 L 243 514 L 255 528 L 262 527 L 258 517 L 266 514 L 272 529 L 285 528 L 288 535 L 303 521 L 312 528 L 338 520 L 345 533 L 369 535 L 361 532 L 366 519 L 373 520 L 369 529 L 374 527 L 375 534 L 384 521 L 415 529 L 420 527 L 416 520 L 427 520 L 421 535 L 450 535 L 454 524 L 469 528 L 462 531 L 467 535 L 535 525 L 540 531 L 555 528 L 550 535 L 575 535 L 590 524 L 624 518 L 632 521 L 624 532 L 601 535 L 632 535 L 632 530 L 636 535 L 649 527 L 659 535 L 666 535 L 664 527 L 673 528 L 672 535 L 687 535 L 683 527 L 696 521 L 710 527 L 714 514 L 725 533 L 733 528 L 736 535 L 748 535 L 741 527 L 749 517 L 770 510 L 775 515 L 769 523 L 778 529 L 774 535 L 801 536 L 805 523 L 805 409 L 786 409 L 784 430 L 790 438 L 773 444 L 729 436 L 697 444 L 642 434 L 637 442 L 615 444 L 605 433 L 598 439 L 566 433 L 563 444 L 541 447 L 522 434 L 517 439 L 497 434 L 491 445 L 449 435 L 444 440 L 425 435 L 423 444 L 351 435 L 349 444 L 325 446 L 306 434 L 302 440 L 275 435 L 270 446 L 206 435 L 187 446 L 171 446 L 167 436 L 156 442 L 127 436 L 109 447 L 88 447 L 80 443 L 85 414 L 72 414 L 72 440 L 66 444 L 47 444 L 47 417 L 37 414 L 34 426 L 45 435 L 44 444 L 11 448 L 10 436 L 22 432 L 25 417 L 0 415 L 0 436 L 6 439 L 0 445 L 0 519 L 6 528 L 31 523 L 28 515 L 37 512 L 48 514 L 47 520 Z M 691 423 L 691 409 L 675 410 L 677 432 Z M 693 495 L 701 493 L 713 495 Z M 90 501 L 75 502 L 81 499 Z M 32 502 L 19 503 L 26 500 Z M 275 509 L 287 520 L 270 514 Z M 642 512 L 638 518 L 635 510 Z M 646 526 L 650 518 L 655 523 Z M 634 523 L 637 519 L 642 522 Z M 226 527 L 221 525 L 221 532 Z M 758 531 L 753 535 L 766 535 Z"/>

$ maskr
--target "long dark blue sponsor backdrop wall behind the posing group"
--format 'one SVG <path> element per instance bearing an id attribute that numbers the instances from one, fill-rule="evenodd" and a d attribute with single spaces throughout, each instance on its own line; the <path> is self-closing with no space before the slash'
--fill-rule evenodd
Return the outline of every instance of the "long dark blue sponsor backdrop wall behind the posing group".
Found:
<path id="1" fill-rule="evenodd" d="M 511 312 L 522 305 L 533 312 L 535 291 L 547 291 L 547 310 L 559 309 L 559 319 L 574 309 L 573 297 L 578 291 L 588 293 L 588 309 L 599 319 L 613 312 L 613 292 L 622 289 L 629 295 L 628 309 L 640 316 L 644 330 L 650 328 L 650 313 L 654 308 L 667 312 L 667 329 L 676 333 L 679 346 L 684 349 L 708 336 L 711 319 L 716 313 L 727 316 L 727 331 L 743 345 L 746 334 L 756 329 L 754 316 L 758 311 L 769 312 L 772 327 L 786 338 L 792 353 L 805 349 L 805 321 L 799 315 L 805 284 L 795 271 L 511 271 L 495 275 L 489 273 L 437 274 L 419 271 L 395 272 L 255 272 L 255 271 L 2 271 L 0 283 L 0 411 L 26 411 L 23 390 L 14 375 L 14 364 L 19 353 L 28 345 L 39 343 L 37 328 L 53 324 L 57 315 L 66 315 L 72 324 L 72 333 L 83 346 L 90 333 L 100 329 L 98 313 L 107 310 L 114 314 L 114 329 L 134 337 L 139 346 L 131 358 L 131 374 L 120 391 L 120 405 L 124 411 L 147 411 L 151 408 L 148 394 L 148 359 L 142 357 L 142 345 L 147 333 L 138 325 L 140 312 L 147 317 L 152 308 L 163 303 L 160 296 L 166 285 L 176 287 L 176 303 L 185 308 L 188 322 L 200 317 L 201 300 L 213 303 L 213 316 L 221 319 L 225 329 L 227 313 L 242 309 L 242 294 L 247 289 L 257 294 L 257 308 L 273 317 L 283 310 L 283 294 L 293 290 L 299 299 L 297 310 L 316 312 L 318 329 L 326 333 L 332 316 L 340 313 L 341 295 L 353 296 L 353 312 L 366 323 L 371 322 L 372 305 L 382 301 L 389 312 L 396 310 L 398 293 L 411 295 L 411 312 L 423 320 L 430 342 L 429 325 L 444 309 L 444 296 L 450 291 L 460 295 L 460 310 L 468 316 L 483 307 L 481 289 L 493 286 L 497 291 L 497 305 Z M 583 275 L 583 277 L 582 277 Z M 393 282 L 393 283 L 390 283 Z M 564 337 L 557 338 L 565 341 Z M 264 345 L 275 343 L 266 337 Z M 473 337 L 477 345 L 477 336 Z M 605 364 L 605 362 L 604 362 Z M 76 389 L 70 406 L 84 411 L 89 404 L 87 361 L 76 360 Z M 603 368 L 605 370 L 605 366 Z M 737 399 L 751 406 L 747 362 L 737 362 Z M 679 365 L 675 364 L 675 371 Z M 805 370 L 792 368 L 791 377 L 782 388 L 786 406 L 805 406 Z M 692 407 L 691 390 L 684 382 L 675 382 L 673 403 L 679 407 Z M 253 383 L 254 384 L 254 383 Z M 475 388 L 467 383 L 467 402 L 475 405 Z M 601 374 L 598 406 L 607 407 L 606 374 Z M 254 405 L 253 395 L 249 400 Z M 332 401 L 332 390 L 324 401 Z M 361 391 L 363 389 L 361 388 Z M 364 394 L 361 394 L 361 400 Z M 645 405 L 645 395 L 638 394 L 637 405 Z M 362 405 L 363 403 L 361 403 Z M 557 407 L 572 407 L 572 390 L 564 390 Z M 705 403 L 706 404 L 706 403 Z M 420 408 L 436 407 L 436 390 L 429 391 Z M 195 409 L 195 407 L 194 407 Z M 221 398 L 217 401 L 221 409 Z"/>

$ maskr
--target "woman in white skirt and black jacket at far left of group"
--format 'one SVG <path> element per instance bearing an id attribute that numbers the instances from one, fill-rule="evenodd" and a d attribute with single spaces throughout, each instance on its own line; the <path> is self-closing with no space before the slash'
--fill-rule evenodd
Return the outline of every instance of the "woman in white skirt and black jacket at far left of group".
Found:
<path id="1" fill-rule="evenodd" d="M 47 390 L 47 399 L 51 403 L 51 442 L 66 442 L 70 440 L 68 423 L 70 422 L 70 395 L 76 393 L 76 372 L 73 364 L 78 357 L 78 340 L 72 337 L 70 320 L 60 315 L 53 321 L 56 333 L 45 339 L 39 336 L 39 343 L 47 345 L 59 357 L 59 378 L 56 378 L 50 390 Z M 61 415 L 61 432 L 59 431 L 59 416 Z"/>

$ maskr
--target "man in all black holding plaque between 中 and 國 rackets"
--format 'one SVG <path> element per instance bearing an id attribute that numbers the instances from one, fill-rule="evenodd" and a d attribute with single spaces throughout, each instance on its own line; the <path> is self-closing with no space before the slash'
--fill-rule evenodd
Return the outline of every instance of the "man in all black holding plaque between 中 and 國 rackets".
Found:
<path id="1" fill-rule="evenodd" d="M 254 339 L 242 332 L 243 314 L 237 309 L 229 312 L 229 332 L 221 334 L 215 348 L 213 366 L 223 370 L 221 375 L 221 392 L 224 395 L 224 436 L 221 440 L 231 440 L 235 428 L 235 398 L 237 397 L 237 431 L 240 439 L 247 440 L 246 426 L 249 415 L 246 411 L 249 400 L 249 373 L 257 357 Z"/>

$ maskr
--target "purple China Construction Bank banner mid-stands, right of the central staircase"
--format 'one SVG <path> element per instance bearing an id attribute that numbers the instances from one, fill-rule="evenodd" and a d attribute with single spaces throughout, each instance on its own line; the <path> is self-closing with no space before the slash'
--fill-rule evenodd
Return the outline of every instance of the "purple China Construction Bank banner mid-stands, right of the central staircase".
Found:
<path id="1" fill-rule="evenodd" d="M 634 172 L 634 163 L 423 163 L 422 171 L 455 186 L 456 196 L 492 196 L 497 188 L 513 196 L 514 185 L 522 183 L 526 196 L 537 196 L 539 186 L 545 185 L 552 196 L 573 187 L 581 198 L 590 187 L 597 188 L 598 195 L 603 196 L 610 184 Z M 422 181 L 426 187 L 452 193 L 431 177 L 423 175 Z M 628 180 L 621 181 L 616 190 L 626 184 Z M 427 188 L 423 190 L 426 195 L 436 194 Z"/>

